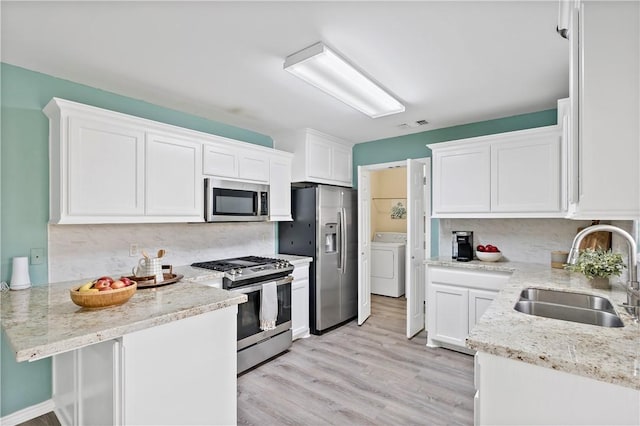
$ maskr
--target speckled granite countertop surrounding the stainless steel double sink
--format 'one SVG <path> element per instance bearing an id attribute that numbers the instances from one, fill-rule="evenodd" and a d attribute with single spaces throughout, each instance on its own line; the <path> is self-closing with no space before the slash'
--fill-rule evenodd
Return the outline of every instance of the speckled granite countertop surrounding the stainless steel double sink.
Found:
<path id="1" fill-rule="evenodd" d="M 640 325 L 620 306 L 623 284 L 595 289 L 583 275 L 549 265 L 518 262 L 457 262 L 434 258 L 429 265 L 513 272 L 505 288 L 467 338 L 473 350 L 640 390 Z M 600 327 L 526 315 L 513 309 L 526 287 L 590 293 L 609 299 L 624 327 Z"/>

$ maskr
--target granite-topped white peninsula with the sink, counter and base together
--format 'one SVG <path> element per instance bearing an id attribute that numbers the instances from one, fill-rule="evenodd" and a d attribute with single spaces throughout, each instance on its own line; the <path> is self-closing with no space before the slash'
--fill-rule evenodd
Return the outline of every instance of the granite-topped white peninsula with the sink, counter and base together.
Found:
<path id="1" fill-rule="evenodd" d="M 595 289 L 580 274 L 542 264 L 426 263 L 428 270 L 512 273 L 466 340 L 477 351 L 476 424 L 640 424 L 640 325 L 621 307 L 621 284 Z M 528 287 L 602 296 L 624 326 L 517 312 L 514 305 Z"/>

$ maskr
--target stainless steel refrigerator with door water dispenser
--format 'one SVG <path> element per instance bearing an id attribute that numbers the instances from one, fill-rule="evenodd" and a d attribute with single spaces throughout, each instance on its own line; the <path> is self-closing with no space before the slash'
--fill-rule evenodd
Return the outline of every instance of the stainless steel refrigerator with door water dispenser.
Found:
<path id="1" fill-rule="evenodd" d="M 357 192 L 339 186 L 291 189 L 293 222 L 280 222 L 279 252 L 313 257 L 309 327 L 322 334 L 358 315 Z"/>

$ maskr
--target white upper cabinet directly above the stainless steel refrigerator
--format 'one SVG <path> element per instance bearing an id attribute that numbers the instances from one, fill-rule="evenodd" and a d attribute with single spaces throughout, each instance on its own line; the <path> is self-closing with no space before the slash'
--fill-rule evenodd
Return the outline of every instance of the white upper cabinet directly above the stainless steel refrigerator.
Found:
<path id="1" fill-rule="evenodd" d="M 352 144 L 313 129 L 280 133 L 274 143 L 294 154 L 293 182 L 352 186 Z"/>

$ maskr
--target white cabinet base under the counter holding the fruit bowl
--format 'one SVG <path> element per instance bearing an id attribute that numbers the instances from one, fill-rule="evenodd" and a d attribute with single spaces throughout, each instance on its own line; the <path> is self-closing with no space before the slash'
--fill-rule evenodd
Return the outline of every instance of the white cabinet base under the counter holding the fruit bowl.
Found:
<path id="1" fill-rule="evenodd" d="M 235 424 L 237 306 L 53 357 L 66 425 Z"/>

